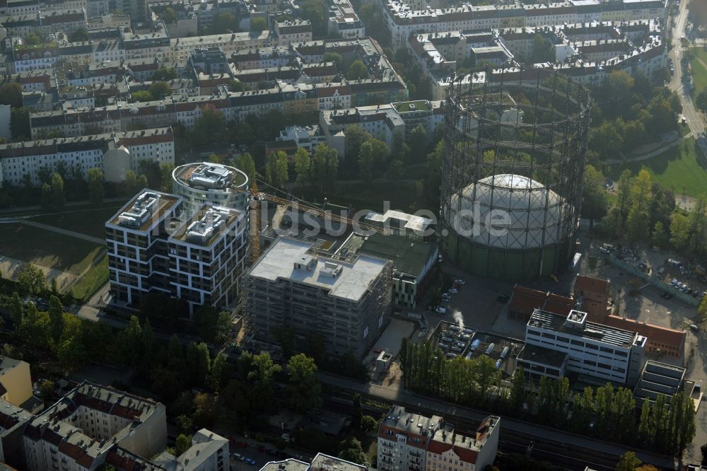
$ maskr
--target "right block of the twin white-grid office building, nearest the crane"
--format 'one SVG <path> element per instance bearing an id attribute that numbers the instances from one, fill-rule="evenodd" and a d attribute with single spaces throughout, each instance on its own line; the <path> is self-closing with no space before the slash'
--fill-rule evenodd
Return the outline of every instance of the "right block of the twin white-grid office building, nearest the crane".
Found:
<path id="1" fill-rule="evenodd" d="M 170 236 L 171 293 L 189 303 L 189 314 L 198 306 L 238 300 L 247 252 L 246 214 L 205 204 Z"/>

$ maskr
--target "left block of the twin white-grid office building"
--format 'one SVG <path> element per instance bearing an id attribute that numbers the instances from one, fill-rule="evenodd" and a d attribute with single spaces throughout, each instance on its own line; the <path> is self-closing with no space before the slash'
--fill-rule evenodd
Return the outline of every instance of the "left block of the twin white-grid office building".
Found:
<path id="1" fill-rule="evenodd" d="M 146 293 L 171 295 L 168 238 L 181 211 L 180 197 L 144 191 L 105 223 L 110 292 L 116 301 L 135 306 Z"/>

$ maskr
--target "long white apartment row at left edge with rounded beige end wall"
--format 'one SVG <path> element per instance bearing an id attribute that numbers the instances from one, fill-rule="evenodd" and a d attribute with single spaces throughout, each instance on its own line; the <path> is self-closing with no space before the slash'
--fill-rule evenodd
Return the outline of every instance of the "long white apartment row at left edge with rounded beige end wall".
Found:
<path id="1" fill-rule="evenodd" d="M 54 170 L 59 162 L 78 169 L 83 178 L 91 168 L 100 168 L 107 181 L 122 182 L 128 170 L 139 170 L 141 161 L 162 165 L 174 158 L 169 127 L 0 144 L 0 182 L 20 185 L 28 175 L 37 185 L 42 168 Z"/>

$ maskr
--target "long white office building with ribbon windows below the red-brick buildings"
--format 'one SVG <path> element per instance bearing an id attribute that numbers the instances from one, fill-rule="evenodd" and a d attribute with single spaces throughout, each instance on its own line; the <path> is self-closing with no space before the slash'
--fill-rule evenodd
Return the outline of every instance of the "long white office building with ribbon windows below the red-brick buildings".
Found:
<path id="1" fill-rule="evenodd" d="M 566 355 L 567 371 L 629 385 L 641 376 L 646 340 L 636 332 L 587 322 L 587 313 L 578 310 L 565 316 L 536 309 L 525 329 L 526 346 Z M 530 376 L 542 374 L 542 358 L 521 355 L 517 364 Z M 553 367 L 557 364 L 553 359 Z"/>

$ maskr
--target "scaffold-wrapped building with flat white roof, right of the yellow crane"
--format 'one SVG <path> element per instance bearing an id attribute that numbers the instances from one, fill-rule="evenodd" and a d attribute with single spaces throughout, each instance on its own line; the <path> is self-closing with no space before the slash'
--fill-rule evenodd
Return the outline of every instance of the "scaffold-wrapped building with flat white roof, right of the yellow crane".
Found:
<path id="1" fill-rule="evenodd" d="M 341 262 L 311 243 L 279 238 L 245 274 L 246 315 L 256 336 L 274 329 L 318 335 L 329 354 L 362 358 L 390 318 L 392 264 L 368 255 Z"/>

